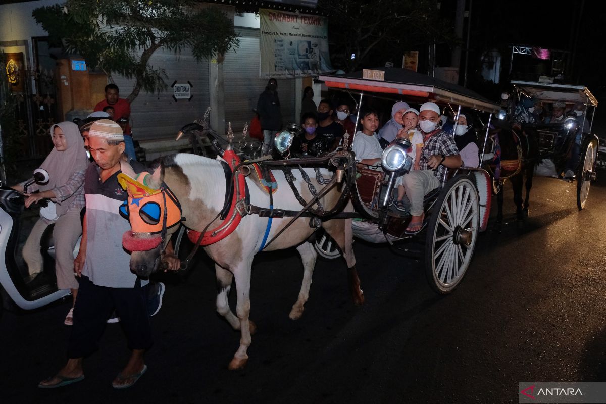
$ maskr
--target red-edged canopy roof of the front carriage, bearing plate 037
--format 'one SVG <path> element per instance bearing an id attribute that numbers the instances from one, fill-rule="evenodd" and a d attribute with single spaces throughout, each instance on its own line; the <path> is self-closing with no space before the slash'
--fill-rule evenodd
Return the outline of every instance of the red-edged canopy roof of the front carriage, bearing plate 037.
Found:
<path id="1" fill-rule="evenodd" d="M 407 101 L 415 99 L 421 102 L 434 101 L 438 104 L 452 103 L 491 113 L 501 109 L 500 105 L 494 104 L 468 88 L 422 75 L 416 71 L 397 67 L 379 67 L 372 71 L 384 72 L 383 79 L 381 80 L 381 75 L 375 75 L 379 78 L 364 78 L 362 71 L 344 75 L 320 75 L 318 79 L 324 81 L 328 88 L 399 94 Z"/>

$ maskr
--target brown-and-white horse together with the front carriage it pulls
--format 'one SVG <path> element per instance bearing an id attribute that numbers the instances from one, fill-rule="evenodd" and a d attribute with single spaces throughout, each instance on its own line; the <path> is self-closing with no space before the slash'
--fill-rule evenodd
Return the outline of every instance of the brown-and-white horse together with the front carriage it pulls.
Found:
<path id="1" fill-rule="evenodd" d="M 371 78 L 359 72 L 322 75 L 320 79 L 328 88 L 359 96 L 359 104 L 370 95 L 405 98 L 419 104 L 433 101 L 455 116 L 461 107 L 480 111 L 486 114 L 484 142 L 493 113 L 500 110 L 499 105 L 466 88 L 403 69 L 385 68 L 375 71 Z M 182 129 L 185 134 L 191 130 L 204 133 L 204 125 L 190 124 Z M 284 131 L 276 137 L 285 156 L 292 136 Z M 187 227 L 188 238 L 196 247 L 184 262 L 189 262 L 199 246 L 215 261 L 217 311 L 241 332 L 240 347 L 230 369 L 242 368 L 248 359 L 250 335 L 255 329 L 248 318 L 250 271 L 259 251 L 296 246 L 301 254 L 304 276 L 290 312 L 291 319 L 298 319 L 309 296 L 316 251 L 335 255 L 327 243 L 318 239 L 314 247 L 312 240 L 317 232 L 322 232 L 320 239 L 331 240 L 338 254 L 344 256 L 350 291 L 359 304 L 364 296 L 355 269 L 353 233 L 381 242 L 425 237 L 428 281 L 435 291 L 445 294 L 461 282 L 478 235 L 487 228 L 490 176 L 479 167 L 459 167 L 447 171 L 440 186 L 425 196 L 424 230 L 405 234 L 410 213 L 396 210 L 391 194 L 396 177 L 410 170 L 408 141 L 391 144 L 383 152 L 382 170 L 371 170 L 356 165 L 355 154 L 348 147 L 351 139 L 321 156 L 275 160 L 239 153 L 233 134 L 228 138 L 225 150 L 210 139 L 222 158 L 176 154 L 156 161 L 151 173 L 125 173 L 132 176 L 125 179 L 128 204 L 132 205 L 132 232 L 124 235 L 123 245 L 132 252 L 131 270 L 148 276 L 161 267 L 165 245 L 178 224 Z M 147 204 L 156 207 L 154 217 L 134 214 Z M 236 314 L 227 299 L 233 280 L 238 289 Z"/>

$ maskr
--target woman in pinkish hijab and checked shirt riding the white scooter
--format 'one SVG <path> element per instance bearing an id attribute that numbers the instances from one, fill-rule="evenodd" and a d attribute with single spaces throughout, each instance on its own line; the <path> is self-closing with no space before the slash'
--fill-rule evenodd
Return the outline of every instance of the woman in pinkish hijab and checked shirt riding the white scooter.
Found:
<path id="1" fill-rule="evenodd" d="M 31 277 L 42 272 L 44 262 L 40 253 L 40 240 L 46 228 L 54 223 L 57 288 L 72 291 L 72 308 L 64 320 L 65 325 L 72 325 L 73 303 L 76 302 L 78 294 L 73 251 L 78 237 L 82 234 L 80 211 L 84 207 L 84 173 L 88 166 L 88 158 L 78 125 L 73 122 L 60 122 L 50 128 L 50 133 L 55 148 L 40 166 L 48 171 L 50 180 L 46 185 L 34 184 L 27 188 L 25 207 L 30 207 L 42 199 L 50 199 L 50 201 L 48 208 L 41 209 L 41 217 L 27 237 L 23 258 Z M 22 192 L 23 184 L 15 185 L 13 188 Z M 32 193 L 36 190 L 40 192 Z"/>

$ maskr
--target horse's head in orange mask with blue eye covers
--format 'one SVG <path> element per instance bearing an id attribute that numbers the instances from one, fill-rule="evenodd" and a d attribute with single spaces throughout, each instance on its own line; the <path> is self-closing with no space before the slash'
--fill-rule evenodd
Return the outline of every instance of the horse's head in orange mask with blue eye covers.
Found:
<path id="1" fill-rule="evenodd" d="M 119 180 L 128 191 L 128 200 L 120 212 L 131 225 L 131 230 L 122 236 L 122 247 L 131 252 L 130 270 L 147 277 L 160 268 L 165 235 L 181 221 L 181 207 L 163 184 L 162 164 L 151 174 L 141 173 L 133 178 L 122 173 Z"/>

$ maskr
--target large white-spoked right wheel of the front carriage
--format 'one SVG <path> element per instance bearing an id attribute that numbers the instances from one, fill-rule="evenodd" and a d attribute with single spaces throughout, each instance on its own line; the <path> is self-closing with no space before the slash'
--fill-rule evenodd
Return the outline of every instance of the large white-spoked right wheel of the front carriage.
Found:
<path id="1" fill-rule="evenodd" d="M 425 245 L 425 275 L 433 290 L 447 294 L 463 279 L 479 232 L 478 190 L 470 177 L 448 181 L 431 210 Z"/>

